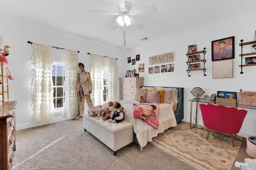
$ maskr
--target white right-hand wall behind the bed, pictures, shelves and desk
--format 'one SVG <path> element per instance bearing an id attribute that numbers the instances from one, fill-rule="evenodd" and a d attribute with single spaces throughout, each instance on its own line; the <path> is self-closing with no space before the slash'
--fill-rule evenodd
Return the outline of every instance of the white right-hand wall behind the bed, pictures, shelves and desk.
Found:
<path id="1" fill-rule="evenodd" d="M 202 21 L 203 22 L 203 21 Z M 175 25 L 173 25 L 175 27 Z M 188 25 L 189 26 L 189 25 Z M 144 77 L 144 85 L 146 86 L 173 86 L 184 87 L 184 120 L 190 121 L 190 102 L 192 99 L 190 91 L 194 87 L 201 87 L 205 91 L 205 95 L 217 93 L 217 91 L 230 91 L 239 92 L 242 90 L 256 91 L 256 66 L 243 67 L 244 74 L 240 74 L 241 67 L 241 47 L 239 46 L 240 40 L 244 42 L 254 41 L 256 30 L 256 14 L 254 11 L 234 16 L 228 20 L 212 23 L 205 27 L 191 29 L 188 32 L 180 33 L 173 37 L 166 37 L 166 40 L 161 42 L 138 47 L 132 51 L 128 51 L 127 56 L 134 59 L 136 55 L 140 54 L 140 61 L 136 61 L 136 65 L 128 65 L 128 69 L 136 68 L 138 64 L 145 64 L 145 72 L 139 73 L 140 77 Z M 212 54 L 211 43 L 214 40 L 235 36 L 235 59 L 233 59 L 233 78 L 212 78 Z M 150 37 L 149 37 L 150 38 Z M 186 70 L 188 69 L 186 61 L 188 57 L 188 45 L 197 45 L 197 50 L 202 51 L 206 47 L 206 76 L 203 71 L 190 72 L 190 77 Z M 243 48 L 243 53 L 250 53 L 250 45 Z M 173 52 L 174 72 L 165 72 L 158 74 L 148 74 L 149 57 Z M 200 54 L 202 57 L 202 54 Z M 250 57 L 250 56 L 249 56 Z M 169 64 L 169 63 L 166 63 Z M 125 70 L 123 75 L 125 74 Z M 195 102 L 194 102 L 195 103 Z M 241 108 L 240 108 L 241 109 Z M 244 119 L 244 123 L 238 135 L 246 137 L 248 135 L 256 134 L 256 110 L 246 109 L 248 113 Z M 195 104 L 193 105 L 192 122 L 195 117 Z M 200 109 L 198 111 L 198 124 L 203 125 Z"/>

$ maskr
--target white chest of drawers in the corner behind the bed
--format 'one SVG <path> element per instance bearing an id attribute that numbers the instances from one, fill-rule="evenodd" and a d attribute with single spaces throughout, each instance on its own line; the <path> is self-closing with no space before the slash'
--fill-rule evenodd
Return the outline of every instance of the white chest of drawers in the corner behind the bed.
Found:
<path id="1" fill-rule="evenodd" d="M 144 86 L 144 77 L 119 78 L 120 100 L 134 99 L 136 88 Z"/>

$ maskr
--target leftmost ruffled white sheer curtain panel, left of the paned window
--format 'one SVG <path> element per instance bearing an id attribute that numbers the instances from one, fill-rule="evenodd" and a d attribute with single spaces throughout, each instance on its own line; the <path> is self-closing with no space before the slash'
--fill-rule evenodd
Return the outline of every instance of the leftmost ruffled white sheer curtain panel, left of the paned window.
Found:
<path id="1" fill-rule="evenodd" d="M 53 120 L 52 47 L 33 43 L 32 63 L 32 104 L 33 125 L 45 125 Z"/>

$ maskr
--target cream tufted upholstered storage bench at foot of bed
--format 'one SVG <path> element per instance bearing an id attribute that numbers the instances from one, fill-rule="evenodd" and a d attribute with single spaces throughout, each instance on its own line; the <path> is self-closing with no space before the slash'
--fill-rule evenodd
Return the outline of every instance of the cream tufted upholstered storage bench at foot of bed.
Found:
<path id="1" fill-rule="evenodd" d="M 83 115 L 84 131 L 90 132 L 110 149 L 116 151 L 133 142 L 133 125 L 127 121 L 109 123 L 102 118 Z"/>

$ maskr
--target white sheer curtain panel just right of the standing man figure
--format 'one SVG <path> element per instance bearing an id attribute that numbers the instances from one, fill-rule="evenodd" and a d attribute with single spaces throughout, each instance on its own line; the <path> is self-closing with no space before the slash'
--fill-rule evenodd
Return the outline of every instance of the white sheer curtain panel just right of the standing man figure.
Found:
<path id="1" fill-rule="evenodd" d="M 104 90 L 104 57 L 91 54 L 90 74 L 92 79 L 92 103 L 93 106 L 101 105 L 103 102 Z"/>

